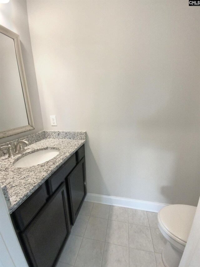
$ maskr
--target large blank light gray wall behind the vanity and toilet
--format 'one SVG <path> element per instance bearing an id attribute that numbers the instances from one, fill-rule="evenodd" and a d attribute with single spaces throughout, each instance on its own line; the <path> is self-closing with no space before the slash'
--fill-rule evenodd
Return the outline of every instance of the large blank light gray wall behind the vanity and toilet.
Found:
<path id="1" fill-rule="evenodd" d="M 199 8 L 27 1 L 27 9 L 44 129 L 87 131 L 88 192 L 197 205 Z"/>

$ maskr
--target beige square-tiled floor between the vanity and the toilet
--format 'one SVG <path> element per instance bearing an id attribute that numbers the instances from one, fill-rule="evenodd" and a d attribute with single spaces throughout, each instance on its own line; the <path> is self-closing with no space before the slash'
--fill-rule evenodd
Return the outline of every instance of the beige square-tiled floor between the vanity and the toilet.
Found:
<path id="1" fill-rule="evenodd" d="M 164 267 L 157 213 L 84 202 L 57 267 Z"/>

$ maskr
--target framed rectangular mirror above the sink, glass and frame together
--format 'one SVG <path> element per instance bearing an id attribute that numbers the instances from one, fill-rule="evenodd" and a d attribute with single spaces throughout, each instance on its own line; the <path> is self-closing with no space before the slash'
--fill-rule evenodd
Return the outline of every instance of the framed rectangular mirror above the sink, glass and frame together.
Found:
<path id="1" fill-rule="evenodd" d="M 32 129 L 19 35 L 0 25 L 0 138 Z"/>

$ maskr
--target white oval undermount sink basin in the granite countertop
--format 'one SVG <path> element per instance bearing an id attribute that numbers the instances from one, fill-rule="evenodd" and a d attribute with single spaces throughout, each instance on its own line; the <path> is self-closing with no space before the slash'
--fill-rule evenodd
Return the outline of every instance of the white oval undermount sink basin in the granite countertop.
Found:
<path id="1" fill-rule="evenodd" d="M 59 154 L 57 149 L 44 149 L 28 154 L 14 163 L 15 168 L 31 167 L 46 162 Z"/>

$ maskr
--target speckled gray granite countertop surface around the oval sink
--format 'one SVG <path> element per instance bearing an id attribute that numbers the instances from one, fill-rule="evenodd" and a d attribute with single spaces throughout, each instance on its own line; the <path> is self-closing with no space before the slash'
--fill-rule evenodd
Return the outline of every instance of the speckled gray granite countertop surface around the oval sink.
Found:
<path id="1" fill-rule="evenodd" d="M 8 158 L 8 155 L 0 157 L 0 183 L 6 198 L 9 213 L 11 214 L 19 207 L 85 141 L 85 139 L 46 138 L 25 147 L 26 151 L 15 157 Z M 27 154 L 48 148 L 58 149 L 59 154 L 53 159 L 36 166 L 26 168 L 15 168 L 13 166 L 13 163 Z"/>

